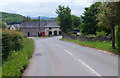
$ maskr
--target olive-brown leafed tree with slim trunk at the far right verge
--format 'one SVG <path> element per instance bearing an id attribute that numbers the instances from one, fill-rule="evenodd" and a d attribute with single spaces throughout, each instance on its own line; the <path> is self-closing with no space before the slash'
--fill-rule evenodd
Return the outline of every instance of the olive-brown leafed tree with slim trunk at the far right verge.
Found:
<path id="1" fill-rule="evenodd" d="M 111 29 L 112 34 L 112 48 L 115 49 L 115 26 L 119 25 L 117 19 L 119 17 L 117 2 L 104 2 L 101 6 L 101 11 L 98 14 L 98 19 L 106 26 Z"/>

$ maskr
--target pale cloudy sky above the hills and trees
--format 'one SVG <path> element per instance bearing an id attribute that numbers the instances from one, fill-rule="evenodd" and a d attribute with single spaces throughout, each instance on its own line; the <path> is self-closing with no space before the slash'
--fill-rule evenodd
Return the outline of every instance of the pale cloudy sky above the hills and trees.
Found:
<path id="1" fill-rule="evenodd" d="M 0 0 L 0 11 L 31 17 L 56 17 L 58 5 L 65 5 L 71 8 L 72 14 L 80 16 L 91 4 L 91 0 Z"/>

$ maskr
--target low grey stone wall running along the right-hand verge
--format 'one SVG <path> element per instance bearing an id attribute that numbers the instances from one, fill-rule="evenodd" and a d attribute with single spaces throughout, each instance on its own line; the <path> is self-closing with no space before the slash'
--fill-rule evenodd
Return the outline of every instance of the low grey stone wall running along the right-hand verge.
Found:
<path id="1" fill-rule="evenodd" d="M 71 36 L 63 35 L 63 39 L 75 39 L 80 41 L 110 41 L 108 37 L 84 37 L 84 36 Z"/>

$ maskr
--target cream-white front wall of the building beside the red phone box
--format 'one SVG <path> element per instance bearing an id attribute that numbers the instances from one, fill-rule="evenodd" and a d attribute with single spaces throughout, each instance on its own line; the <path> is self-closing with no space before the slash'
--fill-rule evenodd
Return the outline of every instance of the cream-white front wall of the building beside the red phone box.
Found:
<path id="1" fill-rule="evenodd" d="M 55 31 L 57 32 L 57 34 L 55 34 Z M 59 32 L 60 32 L 59 27 L 54 27 L 54 28 L 46 27 L 45 28 L 45 35 L 46 36 L 50 35 L 49 32 L 52 32 L 52 35 L 60 35 L 59 34 Z"/>

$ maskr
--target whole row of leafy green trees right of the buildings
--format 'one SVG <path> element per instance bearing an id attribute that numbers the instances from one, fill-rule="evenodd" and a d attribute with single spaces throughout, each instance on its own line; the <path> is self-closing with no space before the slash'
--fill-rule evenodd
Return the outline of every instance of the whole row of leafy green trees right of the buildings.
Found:
<path id="1" fill-rule="evenodd" d="M 109 36 L 112 48 L 120 49 L 120 2 L 95 2 L 85 8 L 80 17 L 72 15 L 71 9 L 62 5 L 58 6 L 56 13 L 63 33 L 69 34 L 77 28 L 83 36 Z"/>

